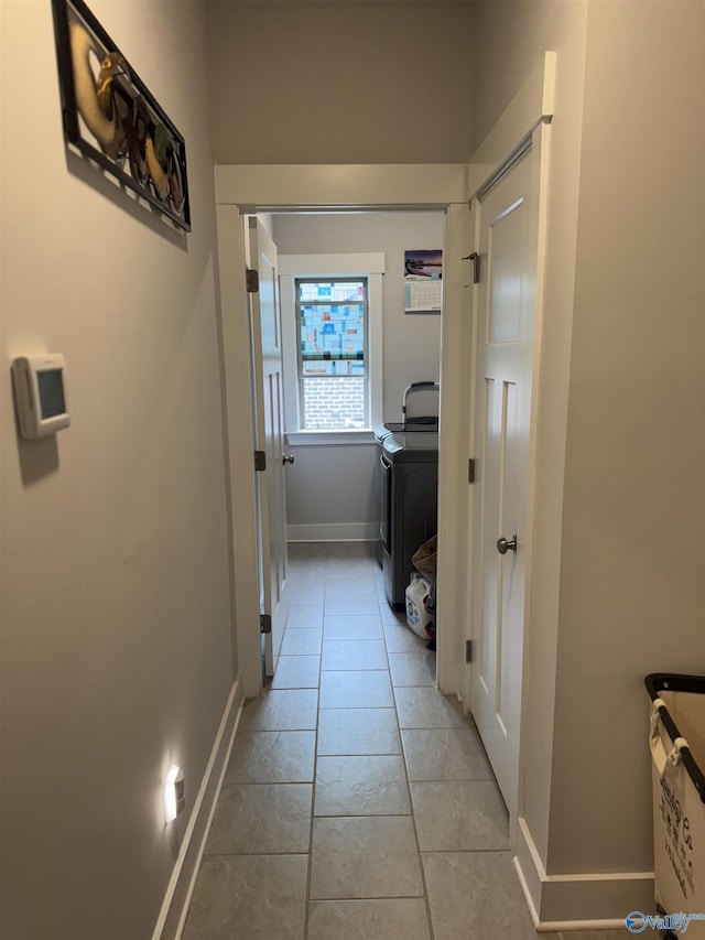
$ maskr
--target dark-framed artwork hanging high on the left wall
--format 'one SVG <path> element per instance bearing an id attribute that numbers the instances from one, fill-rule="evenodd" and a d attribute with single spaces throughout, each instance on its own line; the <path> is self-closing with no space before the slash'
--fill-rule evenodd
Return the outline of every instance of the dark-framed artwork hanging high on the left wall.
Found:
<path id="1" fill-rule="evenodd" d="M 64 136 L 191 231 L 186 144 L 83 0 L 52 0 Z"/>

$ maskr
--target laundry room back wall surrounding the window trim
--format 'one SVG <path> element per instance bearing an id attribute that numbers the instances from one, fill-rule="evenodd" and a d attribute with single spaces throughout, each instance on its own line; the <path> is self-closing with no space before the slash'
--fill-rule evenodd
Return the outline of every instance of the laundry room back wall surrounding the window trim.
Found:
<path id="1" fill-rule="evenodd" d="M 437 381 L 441 317 L 404 314 L 404 250 L 440 248 L 444 216 L 438 213 L 278 215 L 274 240 L 280 255 L 381 251 L 383 420 L 400 421 L 403 392 L 413 381 Z M 379 526 L 377 446 L 292 446 L 295 464 L 286 468 L 286 517 L 293 527 Z M 299 530 L 305 534 L 304 529 Z M 334 532 L 334 530 L 330 530 Z M 335 534 L 335 532 L 334 532 Z M 343 534 L 340 538 L 345 537 Z"/>

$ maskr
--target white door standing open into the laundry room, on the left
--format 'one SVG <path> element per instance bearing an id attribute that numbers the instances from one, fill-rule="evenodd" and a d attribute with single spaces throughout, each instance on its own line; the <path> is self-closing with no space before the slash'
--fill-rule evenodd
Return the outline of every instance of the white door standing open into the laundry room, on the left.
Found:
<path id="1" fill-rule="evenodd" d="M 250 259 L 259 272 L 259 290 L 250 294 L 256 447 L 265 463 L 257 474 L 260 611 L 267 625 L 264 668 L 273 676 L 288 613 L 282 333 L 276 246 L 256 218 L 250 218 Z"/>

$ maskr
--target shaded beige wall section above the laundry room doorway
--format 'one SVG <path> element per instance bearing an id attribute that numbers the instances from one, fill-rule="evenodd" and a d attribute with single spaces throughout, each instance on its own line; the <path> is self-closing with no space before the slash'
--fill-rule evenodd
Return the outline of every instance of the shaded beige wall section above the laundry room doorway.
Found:
<path id="1" fill-rule="evenodd" d="M 216 162 L 463 162 L 471 35 L 438 3 L 210 2 Z"/>

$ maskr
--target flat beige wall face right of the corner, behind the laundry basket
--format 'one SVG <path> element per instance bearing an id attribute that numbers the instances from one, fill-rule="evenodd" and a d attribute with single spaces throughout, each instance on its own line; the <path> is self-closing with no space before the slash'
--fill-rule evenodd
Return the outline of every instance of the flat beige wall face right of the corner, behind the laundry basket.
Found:
<path id="1" fill-rule="evenodd" d="M 694 89 L 705 87 L 704 50 L 702 3 L 590 6 L 555 728 L 561 761 L 551 812 L 558 871 L 595 869 L 607 858 L 618 869 L 649 869 L 642 679 L 650 671 L 705 672 L 705 552 L 694 550 L 705 521 L 705 126 L 692 111 Z M 669 115 L 668 131 L 655 118 L 661 114 Z M 658 257 L 663 271 L 654 268 Z M 598 685 L 599 705 L 579 709 Z M 603 761 L 609 775 L 596 772 Z M 584 781 L 579 814 L 576 778 Z M 627 788 L 630 798 L 619 799 Z"/>

